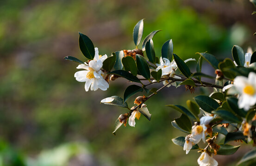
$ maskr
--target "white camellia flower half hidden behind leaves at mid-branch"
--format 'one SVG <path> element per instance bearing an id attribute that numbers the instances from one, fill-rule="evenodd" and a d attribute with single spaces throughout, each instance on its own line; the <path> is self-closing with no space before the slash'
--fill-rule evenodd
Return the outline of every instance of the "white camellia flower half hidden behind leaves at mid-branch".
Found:
<path id="1" fill-rule="evenodd" d="M 184 62 L 186 63 L 187 61 L 190 60 L 195 60 L 195 59 L 187 59 Z M 169 59 L 167 58 L 162 58 L 160 57 L 160 64 L 156 64 L 157 68 L 156 71 L 159 71 L 160 69 L 162 69 L 162 78 L 168 78 L 168 77 L 173 77 L 173 78 L 181 78 L 178 76 L 175 76 L 175 70 L 178 68 L 175 60 L 173 60 L 172 62 L 170 62 Z M 166 85 L 169 83 L 168 80 L 165 80 L 162 82 L 163 85 Z M 172 85 L 175 85 L 176 83 L 171 83 Z M 167 87 L 170 87 L 171 85 L 168 85 Z"/>

